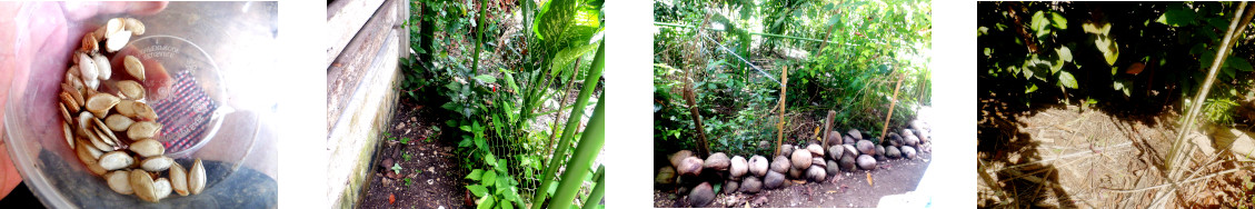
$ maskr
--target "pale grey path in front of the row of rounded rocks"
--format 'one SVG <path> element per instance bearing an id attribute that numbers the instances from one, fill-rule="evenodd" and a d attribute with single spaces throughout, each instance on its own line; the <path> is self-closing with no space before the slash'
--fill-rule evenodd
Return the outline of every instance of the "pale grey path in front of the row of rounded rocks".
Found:
<path id="1" fill-rule="evenodd" d="M 881 196 L 915 190 L 924 171 L 927 170 L 931 158 L 931 153 L 925 153 L 912 160 L 899 159 L 881 163 L 880 168 L 873 171 L 842 171 L 822 183 L 797 184 L 801 181 L 794 181 L 791 186 L 758 194 L 719 194 L 715 196 L 715 201 L 707 206 L 743 208 L 747 204 L 756 208 L 876 206 Z M 868 173 L 871 174 L 871 185 L 867 184 Z M 684 204 L 681 196 L 684 195 L 675 194 L 674 190 L 654 190 L 654 206 L 689 206 Z"/>

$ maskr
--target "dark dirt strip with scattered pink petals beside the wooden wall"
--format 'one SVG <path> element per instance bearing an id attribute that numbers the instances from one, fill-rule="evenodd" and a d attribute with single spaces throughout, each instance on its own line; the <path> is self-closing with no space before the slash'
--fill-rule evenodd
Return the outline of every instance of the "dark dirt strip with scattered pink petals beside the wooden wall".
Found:
<path id="1" fill-rule="evenodd" d="M 432 129 L 441 125 L 430 115 L 434 110 L 404 99 L 399 103 L 389 136 L 375 153 L 375 171 L 360 208 L 469 208 L 456 144 L 438 140 L 439 133 Z M 403 138 L 409 144 L 400 143 Z M 400 173 L 392 169 L 397 164 Z"/>

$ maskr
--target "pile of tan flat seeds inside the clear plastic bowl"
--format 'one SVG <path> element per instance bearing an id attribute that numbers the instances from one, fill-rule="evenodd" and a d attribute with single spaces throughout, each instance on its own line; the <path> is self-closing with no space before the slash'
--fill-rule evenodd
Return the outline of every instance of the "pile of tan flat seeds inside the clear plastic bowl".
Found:
<path id="1" fill-rule="evenodd" d="M 206 180 L 201 159 L 196 159 L 191 169 L 183 169 L 166 156 L 166 146 L 154 140 L 162 124 L 156 121 L 157 113 L 144 101 L 146 90 L 141 84 L 144 65 L 139 59 L 123 58 L 123 68 L 134 80 L 119 78 L 120 81 L 103 84 L 112 85 L 108 89 L 114 93 L 99 91 L 102 81 L 113 75 L 109 56 L 127 45 L 132 35 L 143 34 L 144 25 L 139 20 L 115 18 L 83 36 L 83 48 L 74 51 L 74 64 L 65 73 L 58 96 L 65 143 L 88 170 L 103 176 L 109 188 L 120 194 L 134 194 L 152 203 L 171 191 L 184 196 L 200 194 Z"/>

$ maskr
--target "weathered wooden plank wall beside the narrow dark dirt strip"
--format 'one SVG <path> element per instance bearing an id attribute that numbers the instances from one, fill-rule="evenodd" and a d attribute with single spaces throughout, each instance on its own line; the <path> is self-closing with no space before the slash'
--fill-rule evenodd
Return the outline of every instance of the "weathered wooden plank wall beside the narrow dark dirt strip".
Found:
<path id="1" fill-rule="evenodd" d="M 393 118 L 409 56 L 409 0 L 328 5 L 328 185 L 333 208 L 355 208 L 369 181 L 380 133 Z"/>

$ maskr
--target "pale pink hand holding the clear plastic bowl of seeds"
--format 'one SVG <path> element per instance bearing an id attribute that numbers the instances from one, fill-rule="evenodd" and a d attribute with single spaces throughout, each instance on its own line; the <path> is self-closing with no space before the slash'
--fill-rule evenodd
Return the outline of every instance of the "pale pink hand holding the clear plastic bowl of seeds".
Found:
<path id="1" fill-rule="evenodd" d="M 167 3 L 0 3 L 0 108 L 9 101 L 9 93 L 24 93 L 28 83 L 55 86 L 61 81 L 83 35 L 102 25 L 78 21 L 110 14 L 152 15 L 166 5 Z M 0 118 L 4 114 L 4 109 L 0 109 Z M 0 133 L 3 130 L 4 126 L 0 126 Z M 0 198 L 9 195 L 21 183 L 21 175 L 11 163 L 6 146 L 0 140 Z"/>

